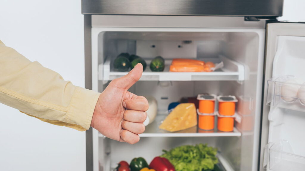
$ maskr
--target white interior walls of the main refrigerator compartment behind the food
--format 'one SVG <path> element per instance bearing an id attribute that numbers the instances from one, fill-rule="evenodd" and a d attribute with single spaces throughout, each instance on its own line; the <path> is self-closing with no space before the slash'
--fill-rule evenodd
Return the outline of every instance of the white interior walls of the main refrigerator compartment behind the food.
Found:
<path id="1" fill-rule="evenodd" d="M 238 131 L 221 133 L 217 132 L 216 128 L 215 133 L 207 134 L 200 133 L 200 130 L 195 128 L 195 131 L 189 133 L 162 134 L 157 130 L 155 134 L 146 133 L 136 145 L 109 140 L 95 131 L 95 169 L 100 166 L 104 170 L 109 170 L 120 160 L 129 162 L 132 158 L 139 156 L 145 157 L 150 162 L 153 157 L 162 154 L 162 149 L 169 150 L 180 145 L 208 143 L 208 145 L 218 148 L 221 162 L 226 166 L 225 169 L 238 171 L 252 168 L 252 170 L 256 170 L 258 141 L 255 140 L 258 140 L 260 124 L 264 29 L 92 28 L 94 90 L 102 92 L 110 82 L 111 77 L 104 79 L 105 67 L 109 67 L 109 74 L 112 74 L 112 62 L 118 54 L 122 52 L 140 53 L 147 61 L 157 55 L 156 51 L 150 49 L 150 46 L 138 46 L 137 42 L 141 41 L 145 41 L 144 44 L 147 45 L 147 42 L 165 44 L 165 46 L 159 47 L 158 52 L 167 60 L 175 57 L 172 54 L 181 54 L 182 52 L 179 53 L 179 51 L 183 51 L 183 48 L 178 48 L 178 46 L 176 48 L 173 44 L 181 42 L 183 46 L 183 42 L 188 41 L 191 43 L 183 51 L 183 54 L 187 55 L 184 58 L 213 61 L 220 60 L 220 56 L 223 56 L 225 59 L 233 61 L 229 62 L 227 66 L 224 63 L 224 68 L 219 71 L 204 72 L 205 75 L 199 76 L 203 78 L 199 79 L 200 81 L 194 77 L 190 77 L 190 80 L 171 80 L 170 77 L 163 77 L 168 80 L 156 78 L 153 79 L 155 81 L 139 81 L 129 91 L 137 95 L 154 96 L 158 102 L 159 116 L 166 114 L 169 103 L 178 101 L 181 97 L 195 97 L 203 92 L 234 95 L 239 100 L 236 111 L 240 121 L 235 123 L 235 130 Z M 162 47 L 167 47 L 167 49 Z M 145 49 L 147 49 L 147 55 L 144 53 Z M 107 60 L 110 63 L 106 65 Z M 147 64 L 149 68 L 149 62 Z M 236 68 L 243 69 L 243 77 L 239 77 Z M 225 75 L 235 72 L 236 77 Z M 154 73 L 146 69 L 143 75 L 151 76 Z M 173 74 L 165 73 L 169 76 Z M 211 79 L 215 77 L 215 73 L 222 77 L 217 77 L 219 80 Z M 160 76 L 164 73 L 157 74 Z M 193 73 L 185 74 L 192 75 Z M 167 86 L 160 86 L 160 83 Z"/>

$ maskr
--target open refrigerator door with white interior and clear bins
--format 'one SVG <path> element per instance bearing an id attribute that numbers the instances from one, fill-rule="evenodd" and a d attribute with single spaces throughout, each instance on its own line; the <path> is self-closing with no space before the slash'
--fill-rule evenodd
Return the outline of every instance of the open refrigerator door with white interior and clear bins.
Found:
<path id="1" fill-rule="evenodd" d="M 305 24 L 271 23 L 267 35 L 260 170 L 305 170 Z"/>

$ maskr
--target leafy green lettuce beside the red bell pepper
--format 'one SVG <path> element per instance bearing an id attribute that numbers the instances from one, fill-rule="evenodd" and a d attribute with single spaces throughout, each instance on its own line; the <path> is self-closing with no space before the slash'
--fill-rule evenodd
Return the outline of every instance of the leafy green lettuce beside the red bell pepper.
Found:
<path id="1" fill-rule="evenodd" d="M 167 158 L 176 171 L 202 171 L 213 170 L 218 163 L 217 148 L 208 147 L 207 144 L 183 145 L 163 150 L 161 157 Z"/>

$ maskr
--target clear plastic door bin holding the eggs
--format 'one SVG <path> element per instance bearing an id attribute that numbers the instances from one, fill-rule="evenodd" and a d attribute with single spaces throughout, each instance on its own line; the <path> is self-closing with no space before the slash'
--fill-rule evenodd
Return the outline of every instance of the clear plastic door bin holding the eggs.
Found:
<path id="1" fill-rule="evenodd" d="M 276 77 L 267 82 L 267 105 L 305 112 L 305 84 L 294 76 Z"/>

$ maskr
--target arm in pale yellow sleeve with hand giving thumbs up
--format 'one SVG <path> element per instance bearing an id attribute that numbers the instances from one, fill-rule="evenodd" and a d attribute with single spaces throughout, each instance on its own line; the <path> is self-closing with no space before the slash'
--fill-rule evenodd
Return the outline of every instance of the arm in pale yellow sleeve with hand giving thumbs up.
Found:
<path id="1" fill-rule="evenodd" d="M 109 138 L 134 144 L 145 129 L 148 103 L 128 88 L 142 70 L 136 66 L 100 94 L 63 80 L 0 41 L 0 102 L 51 124 L 79 131 L 92 126 Z"/>

